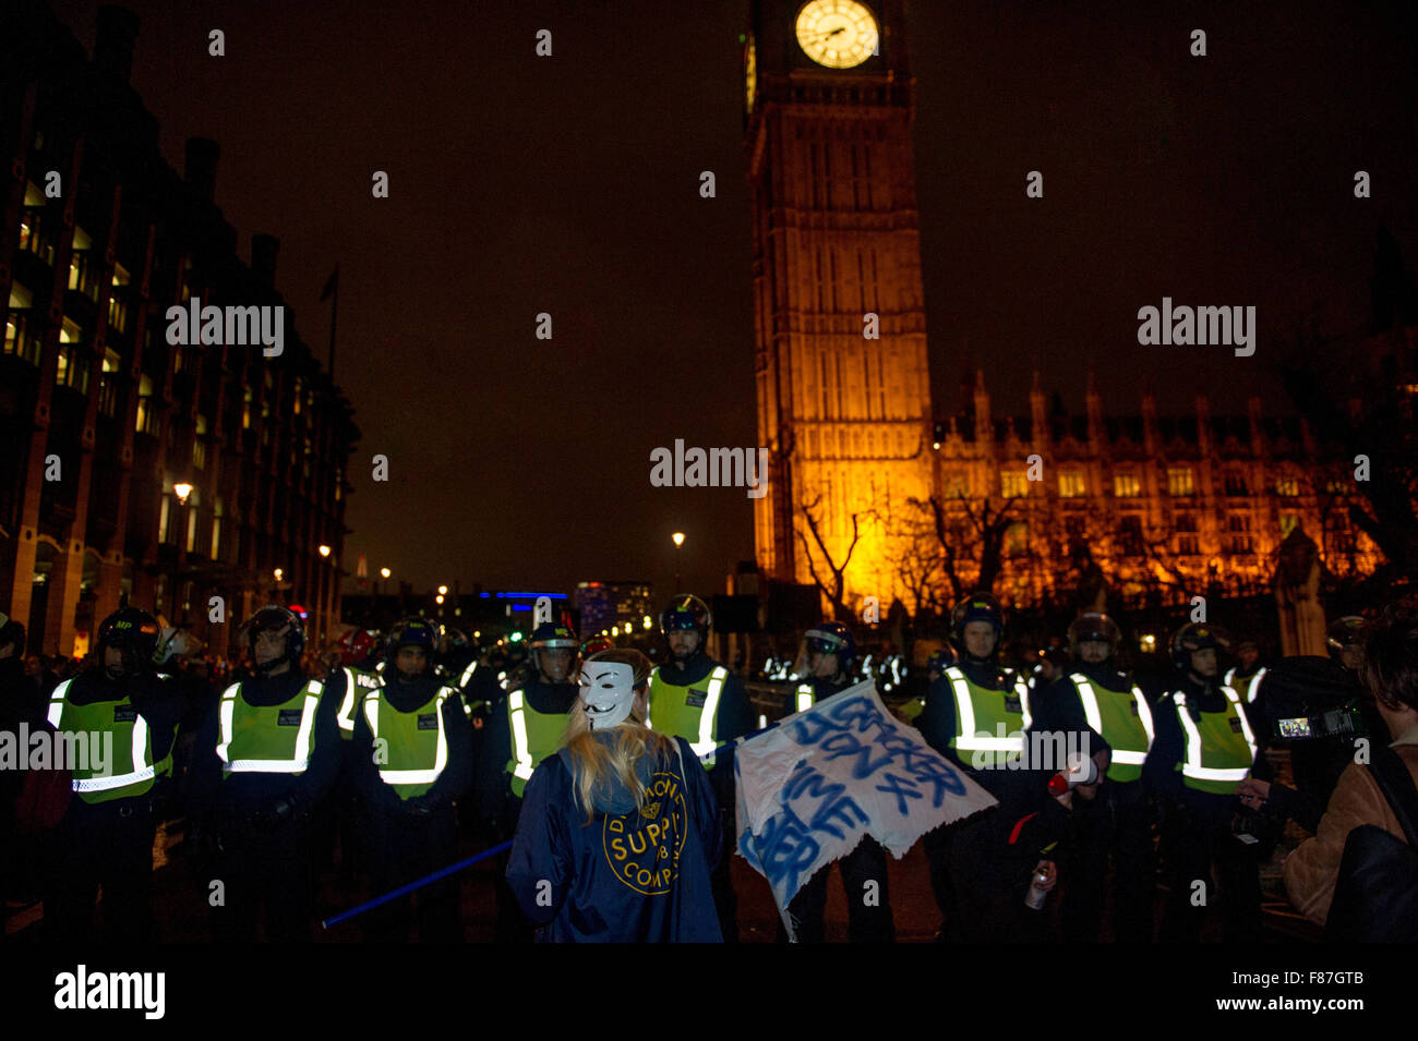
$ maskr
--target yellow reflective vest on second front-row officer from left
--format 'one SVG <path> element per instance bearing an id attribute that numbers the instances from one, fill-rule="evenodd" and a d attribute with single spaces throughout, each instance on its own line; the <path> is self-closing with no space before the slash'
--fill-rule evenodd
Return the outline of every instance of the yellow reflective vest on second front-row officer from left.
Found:
<path id="1" fill-rule="evenodd" d="M 289 701 L 252 705 L 241 697 L 240 683 L 227 687 L 217 710 L 221 776 L 305 773 L 315 746 L 315 712 L 323 690 L 319 680 L 306 680 Z"/>

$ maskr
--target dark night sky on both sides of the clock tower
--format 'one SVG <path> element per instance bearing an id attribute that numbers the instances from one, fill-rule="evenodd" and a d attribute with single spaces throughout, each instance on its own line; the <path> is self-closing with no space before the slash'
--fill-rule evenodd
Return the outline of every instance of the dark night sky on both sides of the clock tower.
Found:
<path id="1" fill-rule="evenodd" d="M 92 50 L 98 4 L 54 6 Z M 747 0 L 129 6 L 164 154 L 182 170 L 187 136 L 220 142 L 217 204 L 244 256 L 281 238 L 277 283 L 322 358 L 340 265 L 336 378 L 364 433 L 346 567 L 665 591 L 683 530 L 686 588 L 722 589 L 753 555 L 750 500 L 654 489 L 648 460 L 756 439 Z M 997 415 L 1027 411 L 1034 364 L 1075 412 L 1089 364 L 1112 412 L 1137 412 L 1144 378 L 1163 414 L 1201 388 L 1214 412 L 1255 389 L 1279 409 L 1268 367 L 1302 322 L 1364 326 L 1380 222 L 1418 254 L 1411 4 L 1160 7 L 912 4 L 937 415 L 977 358 Z M 1163 296 L 1256 306 L 1255 357 L 1139 347 Z"/>

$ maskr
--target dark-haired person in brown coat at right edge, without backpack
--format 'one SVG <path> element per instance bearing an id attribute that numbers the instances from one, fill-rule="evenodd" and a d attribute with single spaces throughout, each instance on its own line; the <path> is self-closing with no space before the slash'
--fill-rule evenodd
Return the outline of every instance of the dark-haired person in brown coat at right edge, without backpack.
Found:
<path id="1" fill-rule="evenodd" d="M 1392 748 L 1418 783 L 1418 613 L 1390 609 L 1370 627 L 1364 646 L 1364 686 L 1394 736 Z M 1285 861 L 1290 904 L 1320 925 L 1329 918 L 1344 840 L 1360 824 L 1404 833 L 1368 769 L 1350 763 L 1340 775 L 1319 831 Z"/>

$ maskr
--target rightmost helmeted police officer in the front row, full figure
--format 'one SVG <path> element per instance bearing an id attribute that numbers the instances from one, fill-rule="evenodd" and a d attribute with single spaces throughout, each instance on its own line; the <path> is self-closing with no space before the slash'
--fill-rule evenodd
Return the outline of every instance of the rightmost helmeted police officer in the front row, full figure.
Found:
<path id="1" fill-rule="evenodd" d="M 1261 936 L 1259 864 L 1232 833 L 1239 809 L 1236 789 L 1252 770 L 1265 778 L 1245 698 L 1221 680 L 1217 656 L 1225 637 L 1193 622 L 1171 637 L 1176 686 L 1153 714 L 1157 739 L 1146 770 L 1167 799 L 1163 820 L 1163 864 L 1170 894 L 1163 915 L 1163 940 L 1195 942 L 1205 906 L 1219 897 L 1224 939 Z M 1217 868 L 1219 894 L 1212 891 Z"/>

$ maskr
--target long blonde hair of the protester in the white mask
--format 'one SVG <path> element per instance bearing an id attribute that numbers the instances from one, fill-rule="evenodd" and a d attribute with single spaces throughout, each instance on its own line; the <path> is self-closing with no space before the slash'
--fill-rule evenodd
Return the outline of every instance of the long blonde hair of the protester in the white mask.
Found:
<path id="1" fill-rule="evenodd" d="M 614 661 L 630 666 L 634 670 L 635 693 L 649 697 L 651 664 L 649 659 L 638 650 L 611 647 L 591 654 L 586 663 L 590 661 Z M 624 722 L 601 732 L 611 735 L 611 739 L 598 741 L 594 736 L 586 702 L 577 697 L 576 705 L 571 708 L 570 725 L 566 729 L 566 751 L 571 756 L 571 789 L 576 792 L 581 809 L 586 810 L 587 824 L 596 819 L 591 793 L 598 785 L 607 783 L 611 778 L 618 779 L 635 796 L 635 809 L 644 809 L 645 785 L 635 773 L 637 763 L 647 755 L 654 756 L 652 765 L 668 763 L 675 755 L 675 742 L 664 734 L 649 729 L 634 707 Z"/>

